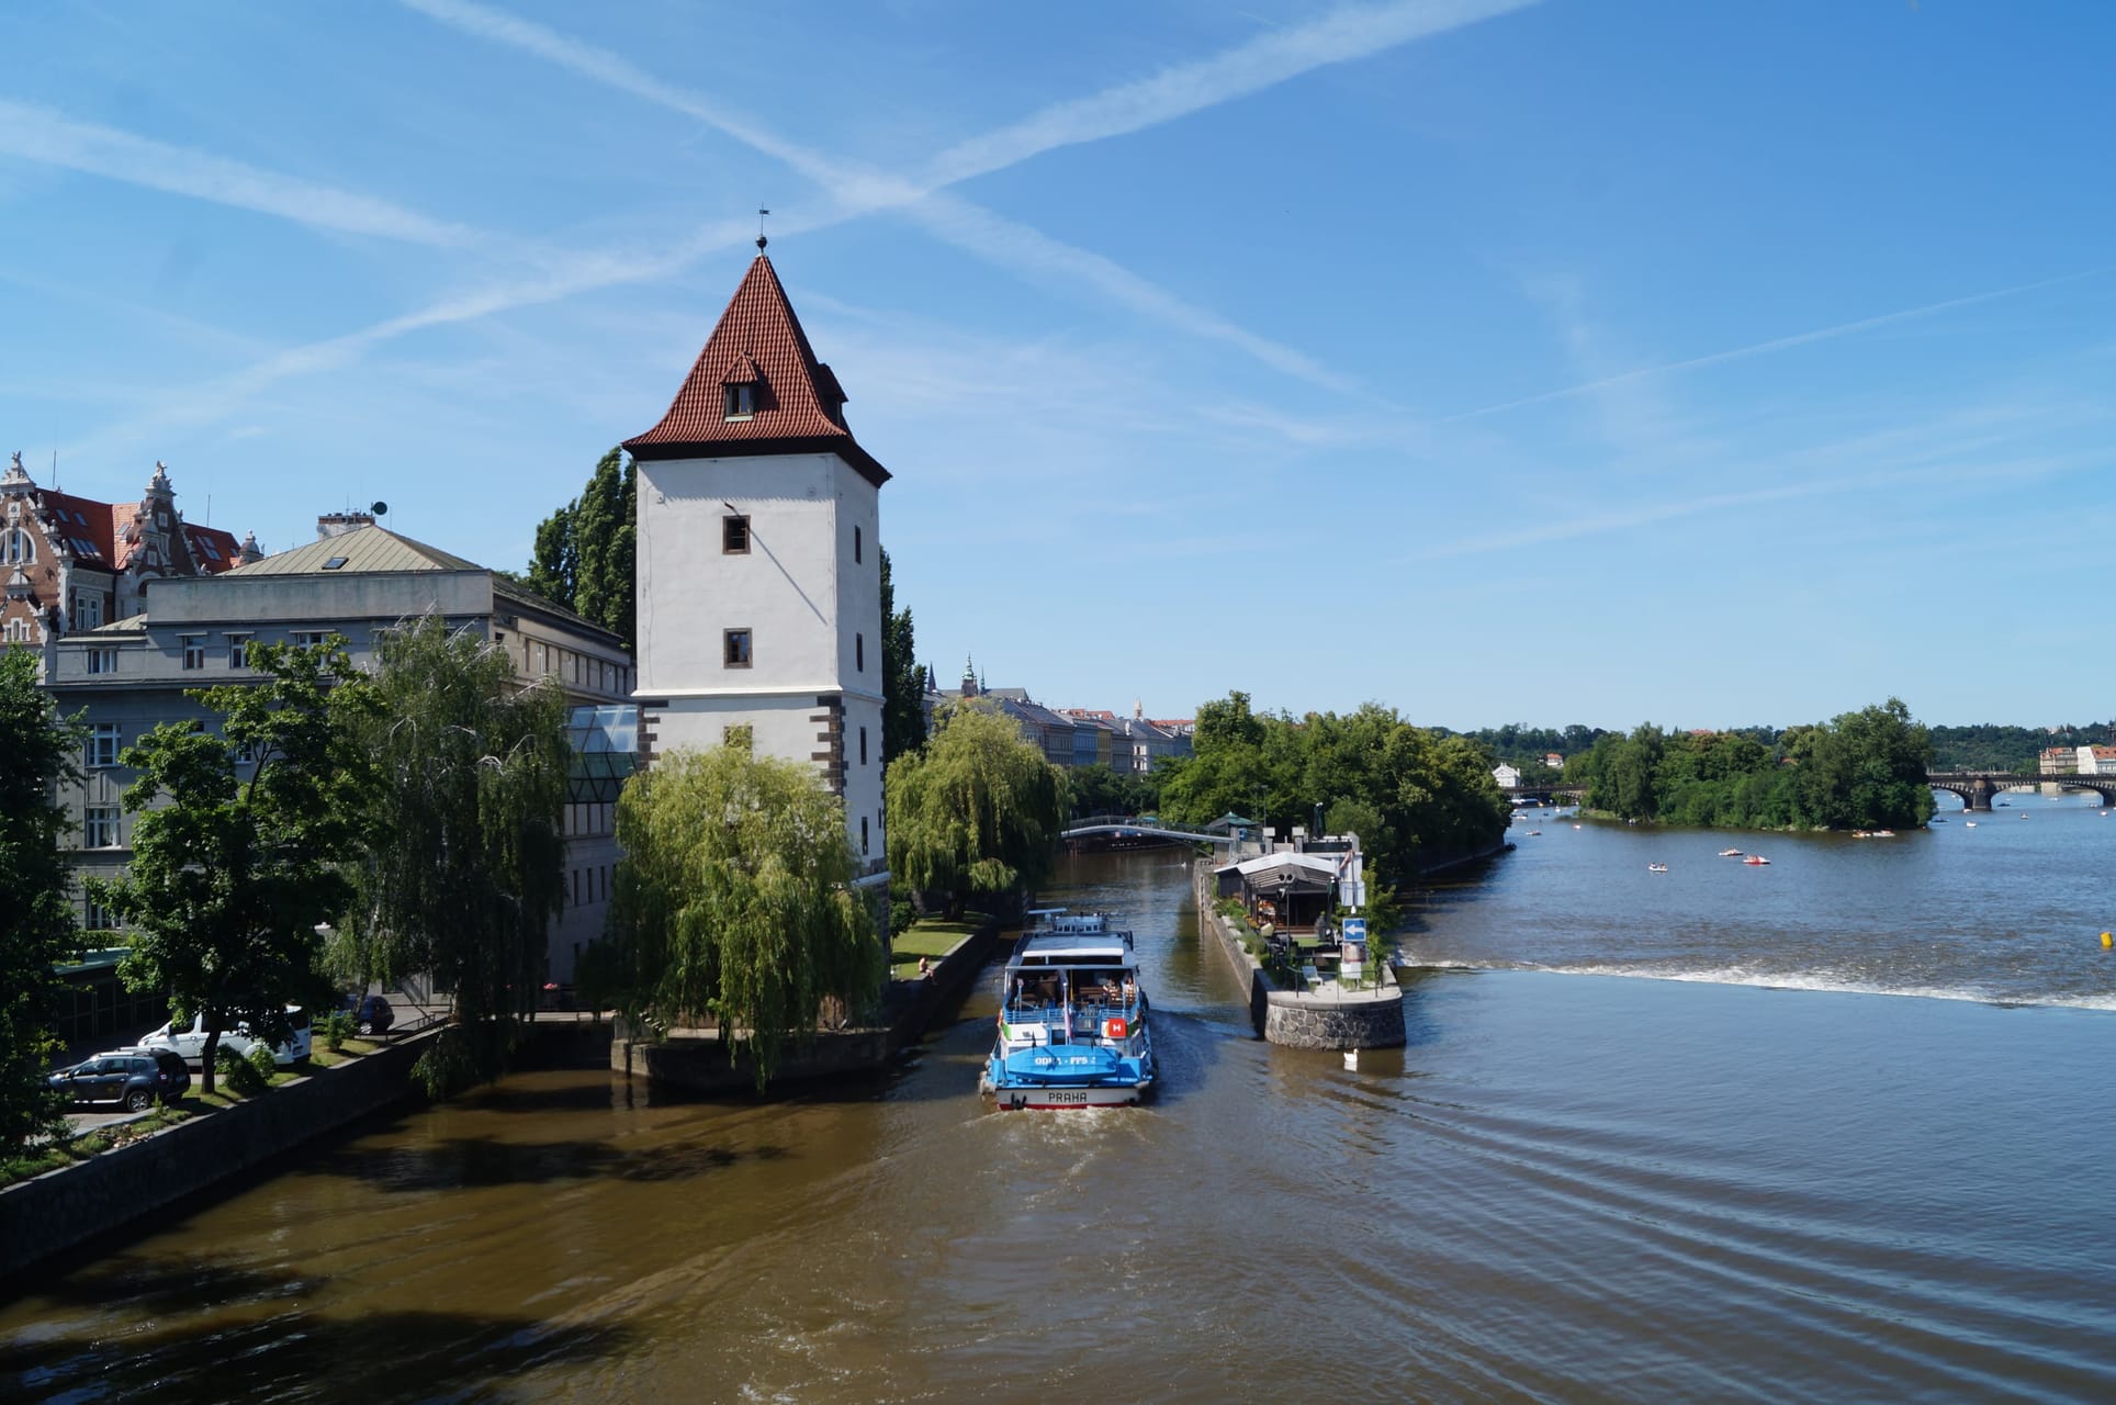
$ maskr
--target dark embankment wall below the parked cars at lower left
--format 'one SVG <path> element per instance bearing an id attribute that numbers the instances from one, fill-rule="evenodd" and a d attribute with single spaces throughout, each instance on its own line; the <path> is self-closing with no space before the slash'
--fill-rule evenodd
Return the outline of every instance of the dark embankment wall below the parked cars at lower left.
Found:
<path id="1" fill-rule="evenodd" d="M 0 1282 L 87 1240 L 150 1219 L 411 1092 L 417 1035 L 296 1083 L 0 1189 Z"/>

